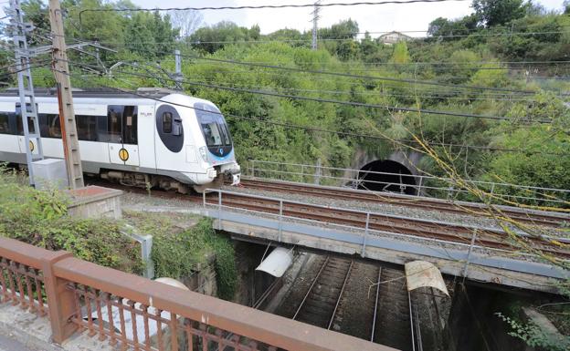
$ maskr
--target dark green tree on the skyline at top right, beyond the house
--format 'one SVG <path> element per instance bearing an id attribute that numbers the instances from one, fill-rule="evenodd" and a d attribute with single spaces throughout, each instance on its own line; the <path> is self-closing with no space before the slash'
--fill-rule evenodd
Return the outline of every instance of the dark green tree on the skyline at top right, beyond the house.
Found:
<path id="1" fill-rule="evenodd" d="M 529 3 L 523 4 L 523 0 L 473 0 L 471 7 L 480 24 L 491 27 L 523 17 L 528 5 Z"/>

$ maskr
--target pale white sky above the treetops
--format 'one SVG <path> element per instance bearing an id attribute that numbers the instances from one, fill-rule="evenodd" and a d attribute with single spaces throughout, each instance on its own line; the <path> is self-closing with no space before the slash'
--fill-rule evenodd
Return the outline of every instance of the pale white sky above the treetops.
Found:
<path id="1" fill-rule="evenodd" d="M 47 1 L 47 0 L 45 0 Z M 141 7 L 203 7 L 225 5 L 279 5 L 310 4 L 313 0 L 132 0 Z M 322 4 L 333 2 L 357 2 L 358 0 L 322 0 Z M 564 0 L 534 0 L 550 10 L 561 10 Z M 0 7 L 7 0 L 0 0 Z M 232 21 L 239 26 L 259 25 L 261 33 L 268 34 L 281 28 L 295 28 L 301 31 L 311 29 L 311 8 L 246 9 L 203 11 L 204 24 Z M 343 19 L 352 18 L 358 22 L 361 32 L 425 31 L 429 22 L 437 17 L 458 18 L 469 15 L 470 1 L 449 1 L 432 4 L 408 5 L 355 5 L 322 7 L 319 26 L 331 26 Z M 0 17 L 4 11 L 0 9 Z M 410 33 L 413 35 L 412 33 Z M 416 36 L 422 34 L 418 33 Z"/>

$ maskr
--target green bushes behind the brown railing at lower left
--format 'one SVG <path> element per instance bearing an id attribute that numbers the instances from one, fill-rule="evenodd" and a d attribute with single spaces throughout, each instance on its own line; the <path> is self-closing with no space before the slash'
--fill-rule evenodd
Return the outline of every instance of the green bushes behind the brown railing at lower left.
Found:
<path id="1" fill-rule="evenodd" d="M 0 236 L 66 250 L 124 272 L 141 272 L 140 246 L 121 234 L 121 223 L 69 217 L 63 193 L 37 191 L 25 182 L 25 177 L 0 166 Z"/>

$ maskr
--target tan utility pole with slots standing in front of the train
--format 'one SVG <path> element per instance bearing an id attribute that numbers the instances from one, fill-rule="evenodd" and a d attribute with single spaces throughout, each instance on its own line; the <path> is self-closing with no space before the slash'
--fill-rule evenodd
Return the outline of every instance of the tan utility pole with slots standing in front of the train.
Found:
<path id="1" fill-rule="evenodd" d="M 73 111 L 73 97 L 69 79 L 68 54 L 66 53 L 63 15 L 59 0 L 49 0 L 49 23 L 53 35 L 53 70 L 58 84 L 59 125 L 63 152 L 68 168 L 69 187 L 83 188 L 83 170 L 79 155 L 79 139 Z"/>

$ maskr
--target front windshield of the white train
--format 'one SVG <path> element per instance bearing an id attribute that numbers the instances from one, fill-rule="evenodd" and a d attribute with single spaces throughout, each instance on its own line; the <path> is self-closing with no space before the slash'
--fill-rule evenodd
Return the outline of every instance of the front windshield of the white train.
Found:
<path id="1" fill-rule="evenodd" d="M 232 145 L 224 116 L 212 105 L 196 103 L 194 107 L 208 150 L 218 157 L 227 156 Z"/>

